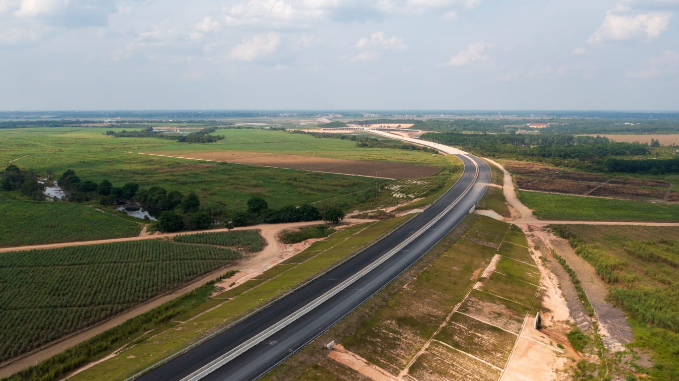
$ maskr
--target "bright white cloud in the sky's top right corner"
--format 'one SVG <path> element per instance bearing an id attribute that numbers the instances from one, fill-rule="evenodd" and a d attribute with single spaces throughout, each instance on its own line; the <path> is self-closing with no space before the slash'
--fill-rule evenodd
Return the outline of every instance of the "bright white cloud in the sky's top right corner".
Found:
<path id="1" fill-rule="evenodd" d="M 669 26 L 672 12 L 633 12 L 625 5 L 616 5 L 606 12 L 602 24 L 587 39 L 588 43 L 607 40 L 656 39 Z"/>

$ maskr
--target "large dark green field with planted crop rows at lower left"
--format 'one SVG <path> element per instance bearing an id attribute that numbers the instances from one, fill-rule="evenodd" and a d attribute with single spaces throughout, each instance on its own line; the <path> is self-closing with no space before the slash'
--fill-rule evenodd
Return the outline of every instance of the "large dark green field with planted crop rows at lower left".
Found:
<path id="1" fill-rule="evenodd" d="M 221 268 L 225 247 L 147 240 L 0 253 L 0 361 Z"/>

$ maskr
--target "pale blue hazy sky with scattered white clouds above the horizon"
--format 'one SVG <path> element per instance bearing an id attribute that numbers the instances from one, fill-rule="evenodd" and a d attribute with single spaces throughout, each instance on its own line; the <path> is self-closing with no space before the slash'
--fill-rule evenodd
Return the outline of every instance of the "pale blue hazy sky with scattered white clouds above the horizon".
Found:
<path id="1" fill-rule="evenodd" d="M 0 0 L 0 110 L 679 111 L 679 0 Z"/>

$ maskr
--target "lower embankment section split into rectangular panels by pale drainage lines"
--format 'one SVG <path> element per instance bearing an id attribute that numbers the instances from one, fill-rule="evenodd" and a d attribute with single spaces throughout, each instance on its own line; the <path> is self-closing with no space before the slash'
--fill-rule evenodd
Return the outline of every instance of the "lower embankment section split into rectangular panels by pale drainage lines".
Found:
<path id="1" fill-rule="evenodd" d="M 500 259 L 494 272 L 488 278 L 479 279 L 482 286 L 473 289 L 435 337 L 444 344 L 437 343 L 428 349 L 429 355 L 424 361 L 443 356 L 453 364 L 473 363 L 471 366 L 476 372 L 473 375 L 466 374 L 464 367 L 458 365 L 452 365 L 449 372 L 470 380 L 497 380 L 518 340 L 540 281 L 528 249 L 507 241 L 517 241 L 519 235 L 509 231 L 498 249 Z M 470 361 L 472 356 L 490 365 Z"/>

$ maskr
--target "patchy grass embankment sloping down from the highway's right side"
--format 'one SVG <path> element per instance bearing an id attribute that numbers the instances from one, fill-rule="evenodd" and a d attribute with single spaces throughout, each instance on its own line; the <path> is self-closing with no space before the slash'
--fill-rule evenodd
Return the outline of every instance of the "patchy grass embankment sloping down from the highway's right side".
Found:
<path id="1" fill-rule="evenodd" d="M 526 239 L 515 228 L 509 230 L 509 224 L 468 216 L 420 262 L 316 342 L 336 340 L 393 376 L 412 363 L 409 374 L 418 380 L 496 379 L 497 369 L 464 353 L 498 367 L 509 357 L 516 340 L 509 332 L 521 329 L 538 289 L 531 283 L 539 278 L 535 266 L 511 259 L 532 263 L 528 249 L 517 243 L 526 245 Z M 464 299 L 496 254 L 500 254 L 497 272 L 480 279 L 481 289 Z M 459 309 L 447 320 L 458 303 Z M 447 324 L 435 335 L 444 321 Z M 359 373 L 338 367 L 319 346 L 304 348 L 263 379 L 362 379 Z"/>

